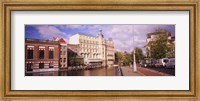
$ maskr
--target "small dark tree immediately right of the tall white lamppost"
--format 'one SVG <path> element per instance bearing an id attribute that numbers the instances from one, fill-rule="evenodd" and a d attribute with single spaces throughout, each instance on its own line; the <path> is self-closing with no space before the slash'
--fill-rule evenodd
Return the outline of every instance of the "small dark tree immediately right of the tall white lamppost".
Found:
<path id="1" fill-rule="evenodd" d="M 143 55 L 142 49 L 140 49 L 138 47 L 135 48 L 135 59 L 136 59 L 137 63 L 139 63 L 140 60 L 144 59 L 144 55 Z"/>

